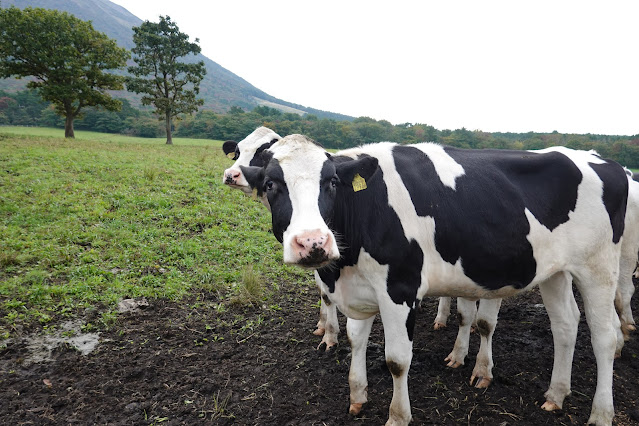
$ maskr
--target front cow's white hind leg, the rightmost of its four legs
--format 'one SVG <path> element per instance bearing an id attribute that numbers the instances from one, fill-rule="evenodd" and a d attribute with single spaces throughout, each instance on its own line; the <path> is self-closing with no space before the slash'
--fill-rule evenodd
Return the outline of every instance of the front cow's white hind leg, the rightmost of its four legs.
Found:
<path id="1" fill-rule="evenodd" d="M 588 423 L 611 425 L 614 417 L 612 375 L 617 341 L 614 298 L 618 274 L 615 270 L 606 271 L 609 257 L 603 254 L 601 257 L 600 262 L 593 262 L 595 266 L 576 271 L 575 284 L 584 301 L 592 349 L 597 360 L 597 388 Z"/>

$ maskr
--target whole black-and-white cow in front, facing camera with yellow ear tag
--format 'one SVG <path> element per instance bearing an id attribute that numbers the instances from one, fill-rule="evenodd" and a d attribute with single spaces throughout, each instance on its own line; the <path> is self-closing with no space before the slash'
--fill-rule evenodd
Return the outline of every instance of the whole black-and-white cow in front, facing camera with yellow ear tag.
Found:
<path id="1" fill-rule="evenodd" d="M 568 149 L 432 143 L 379 143 L 331 156 L 301 135 L 262 157 L 263 167 L 240 168 L 268 199 L 284 262 L 317 269 L 325 294 L 356 320 L 347 322 L 351 413 L 367 400 L 366 342 L 375 314 L 393 376 L 387 424 L 406 425 L 418 301 L 503 298 L 536 285 L 555 351 L 544 406 L 561 407 L 579 319 L 572 276 L 597 360 L 589 423 L 612 424 L 613 300 L 628 192 L 621 166 Z"/>

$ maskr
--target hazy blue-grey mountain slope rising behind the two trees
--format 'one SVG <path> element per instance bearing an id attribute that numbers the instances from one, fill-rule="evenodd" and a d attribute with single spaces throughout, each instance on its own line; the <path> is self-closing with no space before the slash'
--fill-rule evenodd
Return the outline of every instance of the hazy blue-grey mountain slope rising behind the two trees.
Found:
<path id="1" fill-rule="evenodd" d="M 128 10 L 108 0 L 0 0 L 2 7 L 16 6 L 57 9 L 77 16 L 84 21 L 92 21 L 93 27 L 116 40 L 118 44 L 131 49 L 133 44 L 132 27 L 139 26 L 142 20 Z M 212 61 L 204 55 L 198 55 L 197 61 L 204 61 L 206 76 L 200 84 L 200 97 L 204 99 L 204 108 L 216 112 L 226 112 L 232 106 L 251 110 L 257 105 L 277 108 L 285 112 L 309 113 L 320 118 L 352 120 L 343 114 L 321 111 L 314 108 L 286 102 L 271 96 L 253 86 L 243 78 Z M 0 89 L 18 90 L 24 88 L 23 80 L 0 80 Z M 117 97 L 131 99 L 128 92 L 116 92 Z"/>

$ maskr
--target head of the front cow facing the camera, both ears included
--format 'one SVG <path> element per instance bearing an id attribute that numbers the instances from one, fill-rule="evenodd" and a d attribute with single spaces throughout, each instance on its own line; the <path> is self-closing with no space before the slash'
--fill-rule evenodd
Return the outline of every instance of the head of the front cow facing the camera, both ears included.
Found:
<path id="1" fill-rule="evenodd" d="M 264 151 L 262 160 L 262 167 L 241 169 L 249 185 L 268 199 L 284 262 L 316 269 L 339 259 L 329 228 L 335 200 L 352 196 L 355 176 L 368 179 L 377 170 L 377 159 L 338 162 L 307 137 L 290 135 Z"/>

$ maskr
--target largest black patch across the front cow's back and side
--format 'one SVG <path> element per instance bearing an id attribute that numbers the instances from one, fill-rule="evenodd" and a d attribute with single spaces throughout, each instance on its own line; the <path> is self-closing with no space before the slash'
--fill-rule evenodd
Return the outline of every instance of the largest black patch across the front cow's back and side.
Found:
<path id="1" fill-rule="evenodd" d="M 435 247 L 482 287 L 523 288 L 536 261 L 525 209 L 552 230 L 574 210 L 582 175 L 563 154 L 445 148 L 465 174 L 444 185 L 421 150 L 397 145 L 395 167 L 417 214 L 435 220 Z"/>

